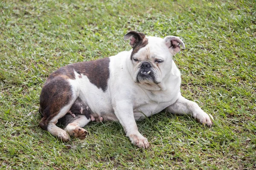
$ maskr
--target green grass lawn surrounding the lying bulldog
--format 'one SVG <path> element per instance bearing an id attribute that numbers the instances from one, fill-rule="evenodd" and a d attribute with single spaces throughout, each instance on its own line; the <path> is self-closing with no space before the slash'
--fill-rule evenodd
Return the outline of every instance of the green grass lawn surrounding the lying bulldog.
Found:
<path id="1" fill-rule="evenodd" d="M 215 118 L 159 113 L 138 122 L 150 148 L 117 122 L 62 143 L 38 122 L 41 87 L 69 63 L 131 47 L 130 30 L 181 37 L 181 91 Z M 0 1 L 1 169 L 256 169 L 256 1 Z M 67 148 L 67 144 L 72 147 Z"/>

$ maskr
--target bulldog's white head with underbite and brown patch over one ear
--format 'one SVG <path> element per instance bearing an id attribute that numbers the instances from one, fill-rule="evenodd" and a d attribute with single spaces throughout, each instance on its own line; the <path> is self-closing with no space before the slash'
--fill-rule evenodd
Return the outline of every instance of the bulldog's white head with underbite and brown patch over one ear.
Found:
<path id="1" fill-rule="evenodd" d="M 130 31 L 124 37 L 128 39 L 133 48 L 130 59 L 134 82 L 147 86 L 160 84 L 170 74 L 172 57 L 180 51 L 180 45 L 185 48 L 182 40 L 174 36 L 162 39 Z"/>

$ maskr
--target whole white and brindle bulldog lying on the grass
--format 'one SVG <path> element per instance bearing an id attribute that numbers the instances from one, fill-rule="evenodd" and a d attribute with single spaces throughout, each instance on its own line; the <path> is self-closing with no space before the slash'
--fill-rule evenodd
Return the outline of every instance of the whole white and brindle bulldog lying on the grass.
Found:
<path id="1" fill-rule="evenodd" d="M 40 127 L 64 142 L 84 139 L 90 121 L 119 121 L 137 147 L 148 148 L 136 120 L 166 110 L 190 114 L 212 126 L 210 116 L 180 93 L 180 71 L 172 57 L 185 45 L 179 37 L 124 36 L 132 49 L 115 56 L 78 62 L 50 74 L 40 95 Z M 56 126 L 64 125 L 64 130 Z"/>

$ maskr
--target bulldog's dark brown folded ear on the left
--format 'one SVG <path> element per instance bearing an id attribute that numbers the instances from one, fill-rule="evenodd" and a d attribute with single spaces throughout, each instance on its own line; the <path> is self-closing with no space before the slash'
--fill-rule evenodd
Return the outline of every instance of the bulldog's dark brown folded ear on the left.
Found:
<path id="1" fill-rule="evenodd" d="M 128 40 L 130 38 L 130 45 L 132 48 L 134 48 L 136 45 L 143 42 L 143 39 L 145 38 L 145 34 L 136 32 L 136 31 L 130 31 L 124 36 L 124 40 Z"/>

